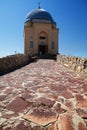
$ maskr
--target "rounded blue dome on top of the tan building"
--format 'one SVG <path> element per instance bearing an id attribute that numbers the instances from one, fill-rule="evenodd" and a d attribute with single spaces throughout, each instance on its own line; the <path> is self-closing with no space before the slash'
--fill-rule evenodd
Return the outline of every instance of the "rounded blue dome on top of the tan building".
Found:
<path id="1" fill-rule="evenodd" d="M 26 17 L 26 21 L 33 21 L 33 20 L 45 20 L 45 21 L 49 21 L 50 23 L 54 23 L 55 21 L 53 20 L 52 16 L 50 15 L 50 13 L 48 13 L 46 10 L 44 9 L 36 9 L 32 12 L 30 12 L 27 17 Z"/>

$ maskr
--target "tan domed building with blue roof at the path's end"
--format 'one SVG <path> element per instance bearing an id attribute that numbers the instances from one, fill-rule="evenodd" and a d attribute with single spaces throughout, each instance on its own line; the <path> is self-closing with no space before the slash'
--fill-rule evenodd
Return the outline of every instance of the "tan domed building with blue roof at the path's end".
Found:
<path id="1" fill-rule="evenodd" d="M 58 33 L 49 12 L 41 8 L 30 12 L 24 24 L 24 53 L 30 56 L 57 54 Z"/>

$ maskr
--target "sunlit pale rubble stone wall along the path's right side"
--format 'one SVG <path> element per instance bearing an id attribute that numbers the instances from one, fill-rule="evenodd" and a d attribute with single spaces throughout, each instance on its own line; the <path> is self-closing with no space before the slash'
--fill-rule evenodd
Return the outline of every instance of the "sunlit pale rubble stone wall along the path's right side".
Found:
<path id="1" fill-rule="evenodd" d="M 87 58 L 57 55 L 57 61 L 78 73 L 84 72 L 85 74 L 87 74 Z"/>

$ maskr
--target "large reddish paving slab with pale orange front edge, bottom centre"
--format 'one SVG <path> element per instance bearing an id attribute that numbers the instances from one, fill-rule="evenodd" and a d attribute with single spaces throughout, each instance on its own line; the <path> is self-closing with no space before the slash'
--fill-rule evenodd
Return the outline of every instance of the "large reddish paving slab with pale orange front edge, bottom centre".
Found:
<path id="1" fill-rule="evenodd" d="M 38 125 L 46 126 L 49 123 L 55 122 L 57 120 L 57 115 L 52 110 L 37 108 L 34 109 L 33 112 L 24 115 L 23 118 Z"/>

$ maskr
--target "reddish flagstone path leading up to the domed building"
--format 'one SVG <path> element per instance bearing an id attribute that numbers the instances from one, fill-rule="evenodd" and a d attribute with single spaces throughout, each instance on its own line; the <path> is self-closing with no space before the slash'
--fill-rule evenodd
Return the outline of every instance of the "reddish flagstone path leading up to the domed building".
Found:
<path id="1" fill-rule="evenodd" d="M 87 79 L 53 60 L 1 76 L 0 130 L 87 130 Z"/>

